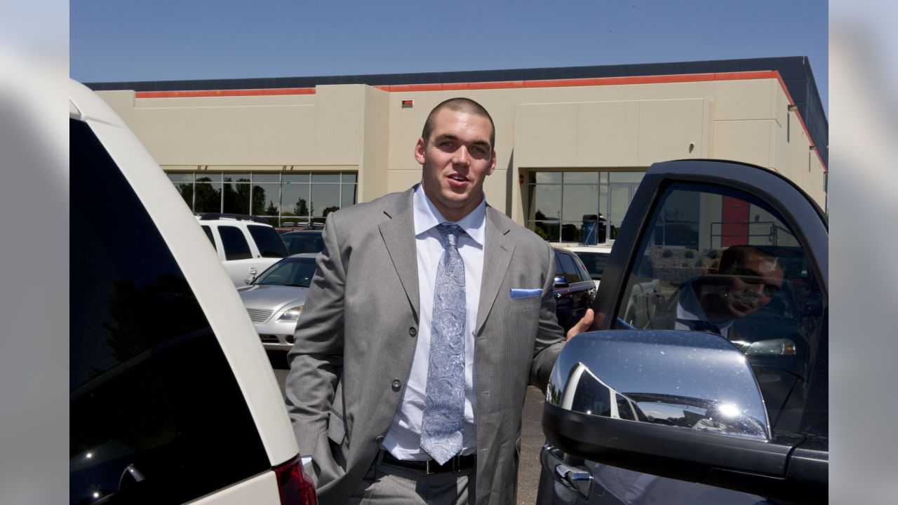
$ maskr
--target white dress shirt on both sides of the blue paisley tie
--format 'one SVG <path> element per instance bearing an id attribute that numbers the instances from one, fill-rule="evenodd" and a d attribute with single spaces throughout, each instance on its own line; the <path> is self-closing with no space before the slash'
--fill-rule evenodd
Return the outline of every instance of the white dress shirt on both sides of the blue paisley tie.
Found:
<path id="1" fill-rule="evenodd" d="M 447 222 L 421 185 L 415 188 L 412 198 L 415 221 L 415 244 L 418 249 L 418 293 L 420 296 L 420 321 L 415 358 L 400 409 L 393 418 L 390 430 L 383 439 L 383 447 L 390 454 L 406 460 L 431 459 L 421 447 L 421 421 L 424 417 L 424 396 L 427 389 L 427 364 L 430 355 L 431 315 L 434 307 L 436 268 L 443 256 L 443 237 L 435 226 Z M 486 235 L 486 200 L 454 224 L 464 230 L 458 237 L 458 252 L 464 261 L 465 332 L 464 332 L 464 434 L 462 455 L 477 450 L 477 433 L 474 428 L 474 409 L 477 407 L 474 393 L 474 328 L 477 324 L 477 306 L 480 304 L 480 279 L 483 276 L 483 251 Z"/>

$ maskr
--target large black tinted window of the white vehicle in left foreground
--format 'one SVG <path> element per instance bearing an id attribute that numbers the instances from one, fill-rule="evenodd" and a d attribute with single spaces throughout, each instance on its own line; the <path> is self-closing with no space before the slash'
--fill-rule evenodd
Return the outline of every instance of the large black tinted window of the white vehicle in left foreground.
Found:
<path id="1" fill-rule="evenodd" d="M 162 236 L 91 129 L 69 136 L 71 503 L 181 503 L 268 470 Z"/>

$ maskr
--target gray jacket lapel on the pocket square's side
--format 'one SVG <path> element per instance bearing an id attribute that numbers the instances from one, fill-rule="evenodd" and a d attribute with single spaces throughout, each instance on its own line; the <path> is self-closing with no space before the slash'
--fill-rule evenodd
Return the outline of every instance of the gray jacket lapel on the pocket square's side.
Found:
<path id="1" fill-rule="evenodd" d="M 498 211 L 487 207 L 486 244 L 483 255 L 483 280 L 480 283 L 480 306 L 477 308 L 477 329 L 480 334 L 483 323 L 487 321 L 490 309 L 496 302 L 502 280 L 505 279 L 515 244 L 508 239 L 511 228 L 496 216 Z"/>

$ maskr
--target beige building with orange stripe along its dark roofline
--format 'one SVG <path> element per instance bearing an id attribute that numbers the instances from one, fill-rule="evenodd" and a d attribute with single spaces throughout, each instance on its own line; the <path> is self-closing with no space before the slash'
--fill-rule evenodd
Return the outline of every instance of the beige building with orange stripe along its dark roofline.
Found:
<path id="1" fill-rule="evenodd" d="M 489 204 L 553 241 L 583 240 L 584 216 L 601 216 L 603 242 L 616 235 L 642 174 L 658 161 L 757 164 L 825 208 L 827 127 L 806 58 L 689 67 L 733 61 L 753 69 L 646 66 L 656 73 L 634 75 L 641 66 L 628 66 L 628 75 L 615 76 L 617 67 L 577 67 L 533 79 L 525 78 L 533 70 L 509 70 L 442 74 L 444 82 L 422 84 L 380 83 L 430 75 L 363 75 L 343 79 L 354 84 L 318 78 L 295 87 L 251 87 L 256 80 L 247 79 L 227 82 L 230 89 L 214 81 L 90 85 L 194 211 L 278 223 L 321 220 L 335 208 L 408 189 L 420 180 L 412 154 L 427 113 L 447 98 L 470 97 L 496 123 Z M 593 76 L 578 76 L 584 68 Z"/>

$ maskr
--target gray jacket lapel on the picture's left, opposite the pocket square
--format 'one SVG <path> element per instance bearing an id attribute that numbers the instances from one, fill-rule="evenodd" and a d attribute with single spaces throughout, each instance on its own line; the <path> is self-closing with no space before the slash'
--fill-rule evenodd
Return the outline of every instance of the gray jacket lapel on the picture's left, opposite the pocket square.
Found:
<path id="1" fill-rule="evenodd" d="M 415 243 L 415 221 L 412 211 L 414 189 L 402 193 L 383 213 L 390 217 L 381 223 L 381 236 L 390 253 L 409 305 L 418 321 L 420 296 L 418 295 L 418 249 Z"/>

